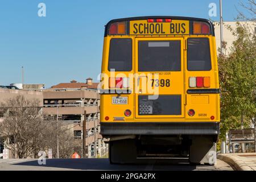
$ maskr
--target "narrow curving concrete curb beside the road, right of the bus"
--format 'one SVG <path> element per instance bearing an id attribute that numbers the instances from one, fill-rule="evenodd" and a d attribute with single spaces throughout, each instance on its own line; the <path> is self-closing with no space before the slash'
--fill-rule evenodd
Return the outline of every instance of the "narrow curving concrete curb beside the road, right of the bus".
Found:
<path id="1" fill-rule="evenodd" d="M 230 166 L 234 167 L 234 169 L 237 171 L 254 171 L 237 155 L 218 154 L 217 159 L 223 160 L 225 163 L 228 163 Z"/>

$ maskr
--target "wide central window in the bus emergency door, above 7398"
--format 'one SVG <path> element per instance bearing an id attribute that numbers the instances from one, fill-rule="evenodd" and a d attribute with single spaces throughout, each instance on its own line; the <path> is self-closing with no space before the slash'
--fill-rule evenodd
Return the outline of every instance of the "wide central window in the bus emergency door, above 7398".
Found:
<path id="1" fill-rule="evenodd" d="M 139 71 L 180 71 L 181 44 L 173 41 L 140 41 Z"/>

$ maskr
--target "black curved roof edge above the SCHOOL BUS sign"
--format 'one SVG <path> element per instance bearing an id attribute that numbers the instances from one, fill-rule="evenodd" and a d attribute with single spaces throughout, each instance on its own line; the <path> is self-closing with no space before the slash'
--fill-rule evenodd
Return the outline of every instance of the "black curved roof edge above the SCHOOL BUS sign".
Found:
<path id="1" fill-rule="evenodd" d="M 214 34 L 214 25 L 210 20 L 203 19 L 203 18 L 185 17 L 185 16 L 137 16 L 137 17 L 130 17 L 130 18 L 113 19 L 113 20 L 110 20 L 106 24 L 104 36 L 108 35 L 109 27 L 112 23 L 115 23 L 115 22 L 130 22 L 130 21 L 133 21 L 133 20 L 147 20 L 147 19 L 172 19 L 172 20 L 188 20 L 188 21 L 192 21 L 192 22 L 193 21 L 195 21 L 195 22 L 205 22 L 210 27 L 210 32 L 211 32 L 210 35 L 215 36 L 215 34 Z"/>

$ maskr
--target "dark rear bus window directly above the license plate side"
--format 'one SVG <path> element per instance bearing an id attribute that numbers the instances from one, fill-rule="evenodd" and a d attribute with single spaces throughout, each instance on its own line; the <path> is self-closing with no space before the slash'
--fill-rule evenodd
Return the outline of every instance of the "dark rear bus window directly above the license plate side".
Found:
<path id="1" fill-rule="evenodd" d="M 132 69 L 132 40 L 111 39 L 109 48 L 109 65 L 111 71 L 131 71 Z"/>

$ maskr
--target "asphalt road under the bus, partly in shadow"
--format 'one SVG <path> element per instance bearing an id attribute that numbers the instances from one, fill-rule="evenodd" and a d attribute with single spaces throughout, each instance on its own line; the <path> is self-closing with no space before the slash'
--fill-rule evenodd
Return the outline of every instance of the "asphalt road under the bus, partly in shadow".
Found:
<path id="1" fill-rule="evenodd" d="M 216 166 L 191 166 L 185 160 L 147 160 L 144 164 L 109 164 L 108 159 L 47 159 L 39 165 L 34 159 L 0 159 L 0 171 L 56 171 L 56 170 L 121 170 L 121 171 L 230 171 L 232 168 L 218 160 Z"/>

